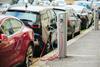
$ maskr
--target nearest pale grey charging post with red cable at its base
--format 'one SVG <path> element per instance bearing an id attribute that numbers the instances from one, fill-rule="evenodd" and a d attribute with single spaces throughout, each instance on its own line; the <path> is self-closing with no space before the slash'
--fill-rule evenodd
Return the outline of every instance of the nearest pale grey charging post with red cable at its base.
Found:
<path id="1" fill-rule="evenodd" d="M 57 42 L 59 59 L 66 57 L 67 50 L 67 13 L 61 13 L 57 20 Z"/>

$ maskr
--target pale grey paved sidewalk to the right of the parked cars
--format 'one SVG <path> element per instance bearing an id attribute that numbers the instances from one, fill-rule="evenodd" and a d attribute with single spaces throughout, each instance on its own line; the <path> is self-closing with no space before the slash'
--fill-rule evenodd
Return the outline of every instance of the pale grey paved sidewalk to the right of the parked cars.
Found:
<path id="1" fill-rule="evenodd" d="M 100 67 L 100 30 L 67 46 L 67 57 L 46 63 L 49 67 Z"/>

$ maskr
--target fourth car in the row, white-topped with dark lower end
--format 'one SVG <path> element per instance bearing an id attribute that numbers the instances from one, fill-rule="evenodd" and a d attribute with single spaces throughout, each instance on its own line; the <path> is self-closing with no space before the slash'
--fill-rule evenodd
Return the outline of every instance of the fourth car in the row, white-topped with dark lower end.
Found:
<path id="1" fill-rule="evenodd" d="M 75 10 L 77 16 L 81 19 L 81 29 L 89 28 L 93 23 L 93 13 L 87 8 L 78 5 L 67 5 L 68 7 Z M 77 8 L 77 9 L 76 9 Z"/>

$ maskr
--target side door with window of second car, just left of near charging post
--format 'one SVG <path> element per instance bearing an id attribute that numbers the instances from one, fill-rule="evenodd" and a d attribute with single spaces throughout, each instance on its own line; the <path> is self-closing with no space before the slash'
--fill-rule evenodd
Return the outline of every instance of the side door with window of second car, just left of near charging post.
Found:
<path id="1" fill-rule="evenodd" d="M 57 16 L 52 9 L 48 10 L 47 14 L 50 20 L 50 39 L 53 43 L 55 40 L 57 40 Z"/>

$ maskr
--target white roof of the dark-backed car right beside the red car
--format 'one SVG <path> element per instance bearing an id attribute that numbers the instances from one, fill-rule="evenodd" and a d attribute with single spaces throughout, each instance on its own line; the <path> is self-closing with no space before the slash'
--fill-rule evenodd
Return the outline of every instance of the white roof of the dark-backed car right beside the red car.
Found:
<path id="1" fill-rule="evenodd" d="M 43 6 L 16 6 L 16 7 L 10 7 L 8 10 L 21 10 L 21 11 L 34 11 L 34 12 L 40 12 L 43 10 L 48 9 L 47 7 Z"/>

